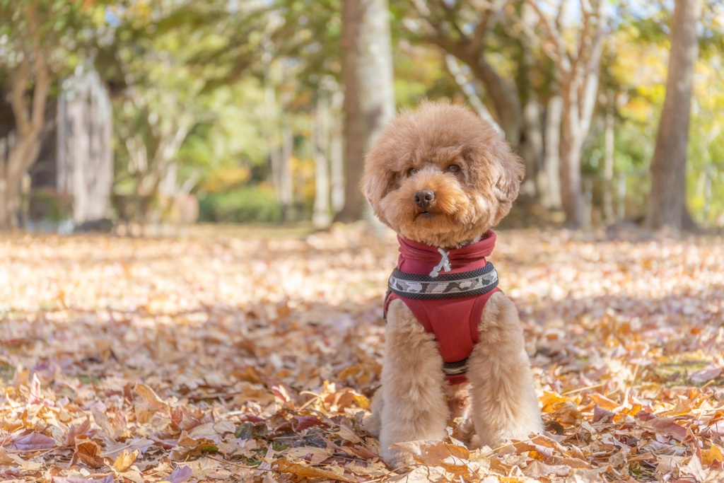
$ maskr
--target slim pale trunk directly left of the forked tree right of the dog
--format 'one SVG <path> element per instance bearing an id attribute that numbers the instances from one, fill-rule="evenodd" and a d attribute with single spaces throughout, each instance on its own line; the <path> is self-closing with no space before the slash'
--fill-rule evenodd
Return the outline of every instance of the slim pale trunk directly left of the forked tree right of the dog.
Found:
<path id="1" fill-rule="evenodd" d="M 541 204 L 547 209 L 561 209 L 560 200 L 560 117 L 563 100 L 553 96 L 548 101 L 545 114 L 543 169 L 538 173 L 538 193 Z"/>

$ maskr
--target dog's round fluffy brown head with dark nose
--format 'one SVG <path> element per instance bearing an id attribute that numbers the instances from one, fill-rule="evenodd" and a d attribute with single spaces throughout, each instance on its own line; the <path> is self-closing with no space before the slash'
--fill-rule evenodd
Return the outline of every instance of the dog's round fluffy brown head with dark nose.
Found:
<path id="1" fill-rule="evenodd" d="M 523 172 L 505 140 L 470 109 L 426 102 L 384 128 L 366 156 L 362 190 L 403 237 L 455 248 L 508 214 Z"/>

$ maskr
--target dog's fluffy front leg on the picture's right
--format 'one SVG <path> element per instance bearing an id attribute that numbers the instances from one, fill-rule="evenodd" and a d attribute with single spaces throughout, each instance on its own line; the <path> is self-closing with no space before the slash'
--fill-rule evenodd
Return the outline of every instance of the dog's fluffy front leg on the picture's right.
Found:
<path id="1" fill-rule="evenodd" d="M 482 445 L 525 440 L 543 432 L 523 328 L 513 302 L 494 293 L 480 323 L 480 342 L 468 360 L 473 423 Z"/>

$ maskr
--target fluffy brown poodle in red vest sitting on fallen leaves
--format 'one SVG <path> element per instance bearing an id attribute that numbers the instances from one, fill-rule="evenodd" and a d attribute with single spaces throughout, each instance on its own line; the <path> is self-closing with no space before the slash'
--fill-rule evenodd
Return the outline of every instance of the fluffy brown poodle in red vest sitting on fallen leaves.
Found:
<path id="1" fill-rule="evenodd" d="M 366 155 L 361 188 L 400 243 L 364 423 L 391 466 L 413 463 L 396 443 L 442 440 L 462 412 L 491 448 L 543 431 L 518 311 L 487 261 L 523 174 L 492 125 L 452 104 L 401 113 Z"/>

